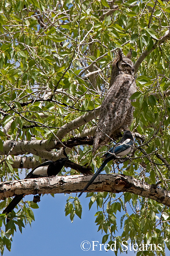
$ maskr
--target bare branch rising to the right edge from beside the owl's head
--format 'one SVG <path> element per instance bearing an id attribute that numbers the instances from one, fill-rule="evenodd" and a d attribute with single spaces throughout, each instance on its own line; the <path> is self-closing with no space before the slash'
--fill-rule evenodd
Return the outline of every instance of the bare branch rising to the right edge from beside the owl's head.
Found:
<path id="1" fill-rule="evenodd" d="M 153 47 L 152 47 L 149 51 L 146 50 L 146 51 L 144 51 L 144 52 L 140 55 L 140 57 L 136 60 L 135 65 L 134 65 L 134 67 L 133 67 L 133 68 L 134 68 L 134 75 L 137 73 L 140 64 L 141 64 L 142 61 L 148 56 L 148 54 L 150 54 L 151 52 L 153 52 L 154 49 L 156 49 L 157 46 L 161 45 L 162 43 L 164 43 L 164 42 L 165 42 L 166 40 L 168 40 L 169 38 L 170 38 L 170 31 L 167 30 L 167 31 L 165 32 L 165 34 L 163 35 L 163 37 L 161 37 L 160 40 L 157 40 L 157 41 L 154 43 Z"/>

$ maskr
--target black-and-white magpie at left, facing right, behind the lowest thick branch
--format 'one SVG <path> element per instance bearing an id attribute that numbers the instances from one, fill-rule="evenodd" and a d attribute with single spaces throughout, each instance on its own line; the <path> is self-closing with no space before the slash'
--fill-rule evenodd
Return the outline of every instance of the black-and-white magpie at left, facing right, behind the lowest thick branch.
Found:
<path id="1" fill-rule="evenodd" d="M 56 176 L 61 169 L 63 168 L 65 162 L 68 160 L 68 157 L 60 158 L 56 161 L 46 161 L 41 163 L 41 165 L 34 168 L 24 179 L 32 179 L 45 176 Z M 3 210 L 2 213 L 10 213 L 16 205 L 22 200 L 25 194 L 17 195 L 13 200 L 8 204 L 8 206 Z M 7 219 L 9 221 L 9 219 Z"/>

